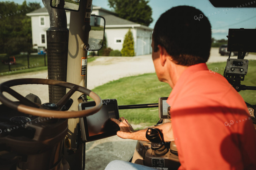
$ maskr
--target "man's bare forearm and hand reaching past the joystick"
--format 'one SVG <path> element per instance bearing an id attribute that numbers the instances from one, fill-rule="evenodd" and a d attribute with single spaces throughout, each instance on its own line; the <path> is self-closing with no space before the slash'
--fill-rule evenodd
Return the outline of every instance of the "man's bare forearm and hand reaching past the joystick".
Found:
<path id="1" fill-rule="evenodd" d="M 119 127 L 120 131 L 117 131 L 117 136 L 123 138 L 123 139 L 134 139 L 134 140 L 139 140 L 139 141 L 148 141 L 146 138 L 146 131 L 147 129 L 141 129 L 141 130 L 133 130 L 133 127 L 131 124 L 128 123 L 128 120 L 125 119 L 124 117 L 117 119 L 111 118 L 113 122 L 115 122 Z M 174 141 L 174 136 L 172 132 L 172 123 L 164 123 L 161 125 L 156 125 L 154 128 L 158 128 L 162 131 L 164 141 L 169 142 L 169 141 Z"/>

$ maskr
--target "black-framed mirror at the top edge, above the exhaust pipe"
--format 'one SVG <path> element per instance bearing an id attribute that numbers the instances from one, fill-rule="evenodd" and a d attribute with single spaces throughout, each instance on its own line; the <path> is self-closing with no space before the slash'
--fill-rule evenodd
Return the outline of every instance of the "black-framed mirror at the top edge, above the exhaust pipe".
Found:
<path id="1" fill-rule="evenodd" d="M 79 11 L 80 2 L 81 0 L 51 0 L 50 6 L 52 8 L 57 8 L 57 9 Z"/>

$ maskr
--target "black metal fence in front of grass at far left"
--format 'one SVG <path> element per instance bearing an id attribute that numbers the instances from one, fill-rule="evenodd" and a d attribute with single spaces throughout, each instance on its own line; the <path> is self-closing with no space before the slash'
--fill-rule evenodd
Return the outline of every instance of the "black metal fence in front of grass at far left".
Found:
<path id="1" fill-rule="evenodd" d="M 24 69 L 47 66 L 47 54 L 0 56 L 0 76 Z"/>

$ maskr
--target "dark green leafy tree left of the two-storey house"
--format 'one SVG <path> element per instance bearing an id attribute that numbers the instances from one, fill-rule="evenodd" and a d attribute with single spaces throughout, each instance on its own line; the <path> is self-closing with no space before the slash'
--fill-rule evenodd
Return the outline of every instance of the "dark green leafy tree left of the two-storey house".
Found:
<path id="1" fill-rule="evenodd" d="M 17 54 L 32 51 L 31 18 L 27 13 L 40 8 L 40 3 L 26 3 L 21 5 L 14 2 L 0 2 L 0 54 Z M 23 48 L 16 48 L 20 46 Z M 10 49 L 11 48 L 11 49 Z M 15 48 L 15 50 L 12 50 Z"/>

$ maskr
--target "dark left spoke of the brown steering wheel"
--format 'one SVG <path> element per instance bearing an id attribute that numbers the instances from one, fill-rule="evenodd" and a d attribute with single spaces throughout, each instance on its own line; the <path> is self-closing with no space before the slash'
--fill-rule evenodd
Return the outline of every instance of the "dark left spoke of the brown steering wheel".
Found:
<path id="1" fill-rule="evenodd" d="M 20 95 L 19 93 L 15 92 L 13 89 L 11 89 L 7 86 L 3 86 L 3 89 L 5 92 L 9 93 L 10 95 L 12 95 L 16 99 L 18 99 L 24 105 L 27 105 L 30 107 L 36 107 L 36 108 L 40 107 L 40 104 L 34 103 L 34 102 L 28 100 L 26 97 L 23 97 L 22 95 Z"/>

